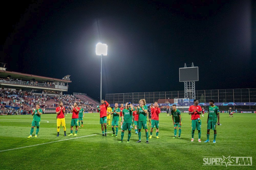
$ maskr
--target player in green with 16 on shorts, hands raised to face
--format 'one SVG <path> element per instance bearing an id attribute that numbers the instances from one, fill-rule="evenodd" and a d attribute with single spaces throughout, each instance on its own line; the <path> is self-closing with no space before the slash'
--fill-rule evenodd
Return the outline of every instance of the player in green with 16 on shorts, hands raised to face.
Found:
<path id="1" fill-rule="evenodd" d="M 131 130 L 132 130 L 132 111 L 133 111 L 133 105 L 130 102 L 126 103 L 125 108 L 123 110 L 123 114 L 122 114 L 123 127 L 121 132 L 121 140 L 119 141 L 119 143 L 123 142 L 124 131 L 127 129 L 128 129 L 127 143 L 130 143 Z"/>

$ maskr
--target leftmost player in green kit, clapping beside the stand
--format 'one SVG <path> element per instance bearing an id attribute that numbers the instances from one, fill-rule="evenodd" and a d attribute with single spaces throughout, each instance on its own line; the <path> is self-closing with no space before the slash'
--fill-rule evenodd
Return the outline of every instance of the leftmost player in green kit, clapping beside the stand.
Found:
<path id="1" fill-rule="evenodd" d="M 32 133 L 34 132 L 34 127 L 35 126 L 36 126 L 35 138 L 37 138 L 37 134 L 39 132 L 41 114 L 42 114 L 42 109 L 40 109 L 40 105 L 39 105 L 39 103 L 37 103 L 36 108 L 33 109 L 33 112 L 31 114 L 33 116 L 33 121 L 32 121 L 31 130 L 30 130 L 30 135 L 28 136 L 28 138 L 32 137 Z"/>

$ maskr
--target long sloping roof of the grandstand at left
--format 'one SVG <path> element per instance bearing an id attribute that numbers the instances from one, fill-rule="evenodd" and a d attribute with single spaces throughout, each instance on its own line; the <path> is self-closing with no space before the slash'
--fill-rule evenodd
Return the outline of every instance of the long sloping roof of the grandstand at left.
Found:
<path id="1" fill-rule="evenodd" d="M 25 80 L 42 80 L 42 81 L 59 81 L 64 83 L 70 83 L 69 80 L 62 80 L 62 79 L 56 79 L 56 78 L 50 78 L 50 77 L 43 77 L 43 76 L 36 76 L 32 74 L 24 74 L 19 72 L 13 72 L 13 71 L 3 71 L 0 70 L 0 76 L 1 77 L 10 77 L 10 78 L 17 78 L 17 79 L 25 79 Z"/>

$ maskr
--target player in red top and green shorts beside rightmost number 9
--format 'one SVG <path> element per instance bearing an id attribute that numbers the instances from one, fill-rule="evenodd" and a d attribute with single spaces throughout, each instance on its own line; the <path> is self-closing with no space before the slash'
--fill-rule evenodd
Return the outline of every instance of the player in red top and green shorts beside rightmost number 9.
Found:
<path id="1" fill-rule="evenodd" d="M 194 142 L 194 134 L 195 130 L 198 130 L 198 142 L 201 142 L 201 119 L 200 114 L 202 114 L 201 106 L 198 106 L 199 101 L 197 99 L 194 100 L 194 105 L 189 106 L 188 114 L 191 115 L 191 142 Z"/>

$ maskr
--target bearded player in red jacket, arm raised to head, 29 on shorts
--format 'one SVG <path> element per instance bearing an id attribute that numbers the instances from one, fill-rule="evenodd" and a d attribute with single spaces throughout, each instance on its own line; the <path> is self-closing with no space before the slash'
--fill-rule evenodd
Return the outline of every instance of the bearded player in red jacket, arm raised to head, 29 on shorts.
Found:
<path id="1" fill-rule="evenodd" d="M 101 105 L 100 105 L 100 111 L 97 110 L 98 113 L 100 112 L 100 124 L 101 124 L 102 136 L 104 136 L 103 124 L 105 127 L 105 136 L 107 136 L 107 108 L 108 108 L 108 105 L 109 105 L 109 103 L 102 99 Z"/>

